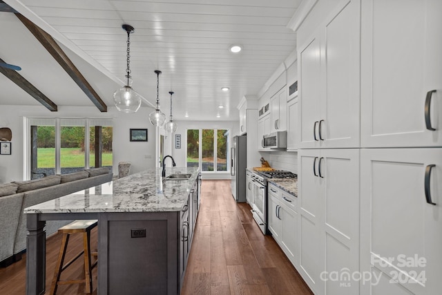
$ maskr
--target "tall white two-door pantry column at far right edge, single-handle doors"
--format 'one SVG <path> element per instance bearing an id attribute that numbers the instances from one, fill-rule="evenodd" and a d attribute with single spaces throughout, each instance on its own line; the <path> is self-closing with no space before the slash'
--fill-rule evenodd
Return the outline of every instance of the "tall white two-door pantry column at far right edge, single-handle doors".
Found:
<path id="1" fill-rule="evenodd" d="M 441 293 L 441 12 L 362 1 L 361 294 Z"/>

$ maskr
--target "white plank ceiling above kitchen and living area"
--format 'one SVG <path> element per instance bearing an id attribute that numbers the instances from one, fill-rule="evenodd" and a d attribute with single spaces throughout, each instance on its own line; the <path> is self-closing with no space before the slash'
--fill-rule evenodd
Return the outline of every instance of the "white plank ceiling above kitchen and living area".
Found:
<path id="1" fill-rule="evenodd" d="M 295 50 L 296 34 L 287 23 L 301 0 L 4 2 L 52 35 L 108 106 L 126 75 L 122 24 L 128 23 L 135 28 L 135 91 L 155 104 L 153 71 L 162 70 L 160 104 L 166 115 L 168 92 L 174 91 L 176 120 L 238 120 L 240 99 L 257 95 Z M 58 106 L 93 106 L 15 15 L 0 12 L 0 27 L 1 59 L 21 66 L 19 73 Z M 230 53 L 231 44 L 240 44 L 242 52 Z M 222 93 L 223 86 L 231 91 Z M 39 105 L 1 74 L 0 88 L 0 105 Z"/>

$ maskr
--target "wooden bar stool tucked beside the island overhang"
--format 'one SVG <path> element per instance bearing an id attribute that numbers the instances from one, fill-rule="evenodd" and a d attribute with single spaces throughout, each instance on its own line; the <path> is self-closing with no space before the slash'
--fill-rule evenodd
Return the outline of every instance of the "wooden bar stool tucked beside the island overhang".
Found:
<path id="1" fill-rule="evenodd" d="M 97 226 L 98 220 L 75 220 L 70 222 L 64 227 L 60 227 L 58 232 L 63 234 L 61 238 L 61 247 L 57 259 L 57 265 L 55 267 L 54 278 L 52 279 L 52 285 L 50 287 L 50 294 L 55 294 L 57 292 L 58 285 L 68 285 L 68 284 L 78 284 L 86 283 L 86 293 L 90 294 L 92 292 L 92 269 L 97 266 L 97 260 L 91 265 L 90 261 L 90 230 Z M 64 263 L 64 257 L 66 256 L 66 249 L 68 248 L 69 236 L 71 234 L 83 234 L 83 251 L 81 251 L 77 256 L 72 258 L 66 265 Z M 75 260 L 77 260 L 82 254 L 84 254 L 84 278 L 79 278 L 75 280 L 60 280 L 61 272 L 63 272 L 69 265 L 71 265 Z"/>

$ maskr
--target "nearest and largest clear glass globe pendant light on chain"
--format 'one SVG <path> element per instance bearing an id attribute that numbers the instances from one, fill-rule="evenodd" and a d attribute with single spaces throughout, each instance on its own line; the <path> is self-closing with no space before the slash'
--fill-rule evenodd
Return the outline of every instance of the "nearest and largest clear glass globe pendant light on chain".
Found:
<path id="1" fill-rule="evenodd" d="M 118 111 L 124 113 L 135 113 L 141 106 L 141 95 L 132 89 L 132 77 L 131 68 L 129 64 L 131 63 L 131 39 L 130 35 L 134 32 L 133 26 L 124 24 L 122 26 L 123 30 L 127 32 L 127 49 L 126 49 L 126 85 L 119 88 L 115 93 L 113 93 L 113 102 L 117 107 Z"/>

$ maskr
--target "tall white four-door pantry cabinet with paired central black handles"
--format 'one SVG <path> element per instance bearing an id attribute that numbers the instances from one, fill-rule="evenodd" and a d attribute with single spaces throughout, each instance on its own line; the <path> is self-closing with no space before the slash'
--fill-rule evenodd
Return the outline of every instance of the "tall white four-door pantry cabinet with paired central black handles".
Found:
<path id="1" fill-rule="evenodd" d="M 325 278 L 359 270 L 360 2 L 341 1 L 302 41 L 298 270 L 316 294 L 358 294 Z"/>

